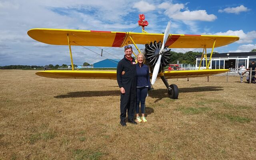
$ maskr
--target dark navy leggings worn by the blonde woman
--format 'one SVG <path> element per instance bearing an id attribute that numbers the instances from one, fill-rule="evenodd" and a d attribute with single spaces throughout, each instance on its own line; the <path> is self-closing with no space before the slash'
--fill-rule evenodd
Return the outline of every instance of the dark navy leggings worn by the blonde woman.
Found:
<path id="1" fill-rule="evenodd" d="M 141 113 L 145 113 L 145 100 L 148 95 L 148 87 L 140 87 L 137 88 L 137 105 L 136 105 L 136 114 L 139 113 L 139 109 L 141 109 Z"/>

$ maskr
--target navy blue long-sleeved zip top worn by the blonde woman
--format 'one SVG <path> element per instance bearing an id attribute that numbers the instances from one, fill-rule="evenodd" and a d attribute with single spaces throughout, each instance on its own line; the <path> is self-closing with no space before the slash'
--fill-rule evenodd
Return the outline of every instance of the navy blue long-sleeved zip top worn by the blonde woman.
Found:
<path id="1" fill-rule="evenodd" d="M 136 71 L 137 71 L 137 87 L 146 87 L 150 90 L 150 76 L 149 76 L 149 69 L 147 65 L 142 64 L 141 67 L 137 63 L 136 64 Z"/>

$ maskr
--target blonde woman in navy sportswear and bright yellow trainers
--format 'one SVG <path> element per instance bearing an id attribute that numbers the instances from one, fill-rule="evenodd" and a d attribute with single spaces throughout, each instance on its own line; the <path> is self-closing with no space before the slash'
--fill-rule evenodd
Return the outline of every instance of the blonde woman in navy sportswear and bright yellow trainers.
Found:
<path id="1" fill-rule="evenodd" d="M 150 90 L 150 76 L 149 69 L 147 65 L 144 65 L 145 56 L 144 54 L 139 53 L 137 55 L 137 104 L 136 104 L 136 122 L 147 122 L 145 117 L 145 100 L 148 95 L 148 90 Z M 125 72 L 122 72 L 124 75 Z M 139 109 L 141 109 L 142 117 L 139 116 Z"/>

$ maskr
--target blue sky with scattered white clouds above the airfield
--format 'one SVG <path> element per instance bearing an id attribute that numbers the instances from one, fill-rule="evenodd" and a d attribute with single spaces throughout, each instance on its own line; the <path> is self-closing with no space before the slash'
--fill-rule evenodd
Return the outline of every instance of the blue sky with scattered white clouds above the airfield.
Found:
<path id="1" fill-rule="evenodd" d="M 164 32 L 170 21 L 172 34 L 240 37 L 238 42 L 215 48 L 216 52 L 249 52 L 256 48 L 255 8 L 253 0 L 0 0 L 0 66 L 71 64 L 68 46 L 37 42 L 27 35 L 32 28 L 141 32 L 136 28 L 140 13 L 149 22 L 147 32 Z M 123 48 L 88 48 L 99 54 L 102 48 L 111 55 L 103 52 L 104 57 L 100 57 L 73 46 L 74 64 L 93 64 L 106 58 L 122 58 L 124 54 Z M 174 49 L 190 50 L 195 48 Z"/>

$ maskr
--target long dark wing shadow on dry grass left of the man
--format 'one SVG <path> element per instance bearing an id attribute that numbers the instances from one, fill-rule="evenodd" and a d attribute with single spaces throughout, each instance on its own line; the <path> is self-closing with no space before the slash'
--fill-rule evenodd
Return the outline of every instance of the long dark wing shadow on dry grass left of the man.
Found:
<path id="1" fill-rule="evenodd" d="M 67 94 L 54 96 L 54 98 L 79 98 L 79 97 L 101 97 L 101 96 L 120 96 L 120 90 L 69 92 Z"/>

